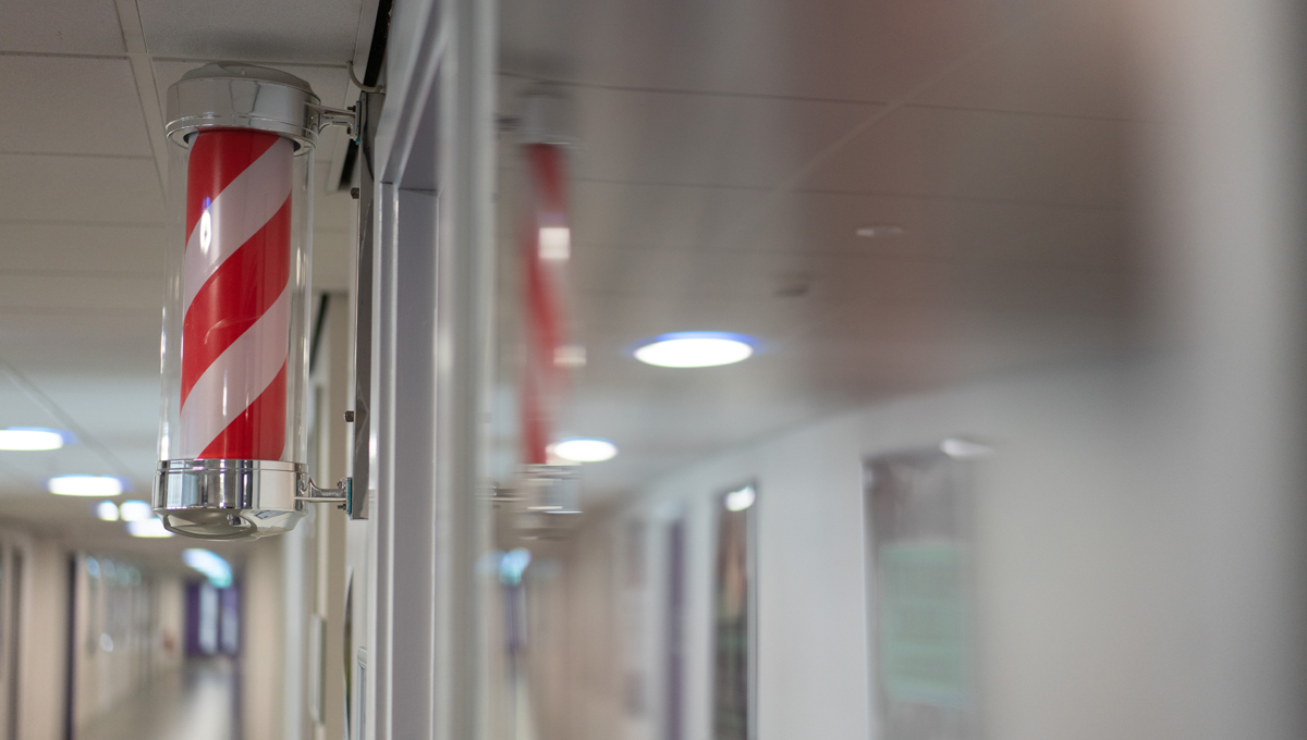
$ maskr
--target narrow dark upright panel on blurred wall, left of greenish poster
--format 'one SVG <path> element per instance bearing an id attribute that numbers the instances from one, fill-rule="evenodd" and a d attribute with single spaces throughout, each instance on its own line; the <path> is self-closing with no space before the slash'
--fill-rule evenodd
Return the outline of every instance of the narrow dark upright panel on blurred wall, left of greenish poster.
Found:
<path id="1" fill-rule="evenodd" d="M 714 740 L 752 740 L 757 663 L 753 519 L 757 493 L 745 486 L 718 499 L 714 582 Z"/>

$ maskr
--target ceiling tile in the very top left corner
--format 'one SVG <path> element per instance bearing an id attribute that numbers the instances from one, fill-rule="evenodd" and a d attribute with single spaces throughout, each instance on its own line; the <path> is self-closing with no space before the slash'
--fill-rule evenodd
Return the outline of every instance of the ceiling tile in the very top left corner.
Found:
<path id="1" fill-rule="evenodd" d="M 0 51 L 123 54 L 114 0 L 5 0 Z"/>

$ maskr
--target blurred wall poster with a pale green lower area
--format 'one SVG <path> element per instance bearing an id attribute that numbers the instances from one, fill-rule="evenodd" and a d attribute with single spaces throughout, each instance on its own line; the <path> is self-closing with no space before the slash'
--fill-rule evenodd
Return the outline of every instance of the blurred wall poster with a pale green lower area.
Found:
<path id="1" fill-rule="evenodd" d="M 968 463 L 928 449 L 864 474 L 880 736 L 974 739 Z"/>

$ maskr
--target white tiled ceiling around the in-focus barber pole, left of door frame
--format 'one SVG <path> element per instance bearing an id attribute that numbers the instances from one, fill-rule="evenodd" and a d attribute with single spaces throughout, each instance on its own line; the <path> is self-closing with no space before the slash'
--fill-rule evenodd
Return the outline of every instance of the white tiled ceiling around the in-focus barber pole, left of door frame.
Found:
<path id="1" fill-rule="evenodd" d="M 0 427 L 73 427 L 80 439 L 0 452 L 0 521 L 129 547 L 120 525 L 90 519 L 90 501 L 50 496 L 43 480 L 124 475 L 133 496 L 149 496 L 169 247 L 157 129 L 169 85 L 208 61 L 265 63 L 307 80 L 324 103 L 349 104 L 345 65 L 372 12 L 365 0 L 5 1 Z M 314 213 L 315 287 L 335 290 L 345 288 L 352 201 L 322 185 L 341 145 L 335 131 L 319 145 Z"/>

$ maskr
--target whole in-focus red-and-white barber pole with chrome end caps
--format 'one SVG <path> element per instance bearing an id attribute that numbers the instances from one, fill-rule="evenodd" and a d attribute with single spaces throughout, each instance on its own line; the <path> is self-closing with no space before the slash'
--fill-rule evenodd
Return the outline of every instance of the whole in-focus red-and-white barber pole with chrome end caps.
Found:
<path id="1" fill-rule="evenodd" d="M 303 516 L 319 99 L 298 77 L 208 64 L 167 93 L 162 414 L 154 512 L 247 539 Z"/>

